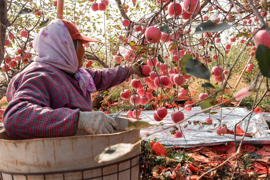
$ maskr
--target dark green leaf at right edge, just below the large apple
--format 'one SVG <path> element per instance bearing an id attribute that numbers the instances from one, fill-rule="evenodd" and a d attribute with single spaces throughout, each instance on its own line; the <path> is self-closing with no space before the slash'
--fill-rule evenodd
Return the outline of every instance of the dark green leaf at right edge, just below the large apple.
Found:
<path id="1" fill-rule="evenodd" d="M 259 44 L 256 49 L 255 56 L 258 61 L 261 74 L 265 77 L 270 77 L 270 48 Z"/>

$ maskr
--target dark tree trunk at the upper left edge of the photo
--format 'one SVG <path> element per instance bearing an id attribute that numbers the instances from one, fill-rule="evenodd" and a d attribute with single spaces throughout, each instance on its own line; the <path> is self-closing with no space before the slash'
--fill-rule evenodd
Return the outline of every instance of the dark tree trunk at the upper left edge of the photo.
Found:
<path id="1" fill-rule="evenodd" d="M 7 19 L 7 0 L 0 0 L 0 22 L 7 26 L 8 19 Z M 0 64 L 4 59 L 4 45 L 6 39 L 6 27 L 0 24 Z"/>

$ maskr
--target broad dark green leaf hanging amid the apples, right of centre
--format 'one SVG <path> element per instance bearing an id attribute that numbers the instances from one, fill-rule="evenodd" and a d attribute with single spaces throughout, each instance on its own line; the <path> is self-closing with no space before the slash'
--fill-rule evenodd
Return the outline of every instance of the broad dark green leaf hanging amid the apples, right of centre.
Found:
<path id="1" fill-rule="evenodd" d="M 210 78 L 210 71 L 200 61 L 195 59 L 188 59 L 185 65 L 186 72 L 195 77 L 208 80 Z"/>

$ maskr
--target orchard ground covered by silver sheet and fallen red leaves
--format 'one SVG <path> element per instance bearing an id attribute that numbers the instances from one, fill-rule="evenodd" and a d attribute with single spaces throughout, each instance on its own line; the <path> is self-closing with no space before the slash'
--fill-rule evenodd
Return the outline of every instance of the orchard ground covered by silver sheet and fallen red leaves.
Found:
<path id="1" fill-rule="evenodd" d="M 211 110 L 210 117 L 213 123 L 208 125 L 203 122 L 209 114 L 199 113 L 200 110 L 200 107 L 194 107 L 191 111 L 184 111 L 185 118 L 190 117 L 180 125 L 184 137 L 172 136 L 171 133 L 174 133 L 176 128 L 180 129 L 179 125 L 171 127 L 173 122 L 170 117 L 164 118 L 162 126 L 141 129 L 141 136 L 146 138 L 150 145 L 148 179 L 197 179 L 212 168 L 215 169 L 201 179 L 270 178 L 270 131 L 266 123 L 270 120 L 270 113 L 253 113 L 249 119 L 249 116 L 244 118 L 249 112 L 244 108 L 216 108 Z M 171 112 L 172 109 L 169 109 L 168 114 Z M 153 111 L 143 111 L 141 120 L 156 123 L 152 120 L 152 113 Z M 236 147 L 242 138 L 242 129 L 245 129 L 247 122 L 249 125 L 236 159 L 233 156 L 233 129 L 239 120 L 242 122 L 236 128 Z M 227 129 L 223 136 L 215 132 L 219 123 Z M 218 167 L 224 161 L 226 162 Z"/>

